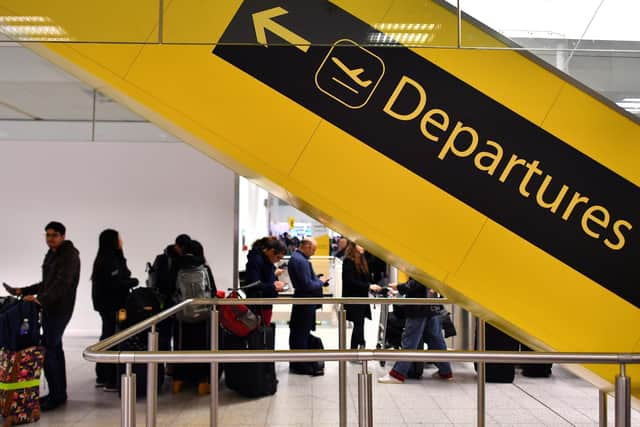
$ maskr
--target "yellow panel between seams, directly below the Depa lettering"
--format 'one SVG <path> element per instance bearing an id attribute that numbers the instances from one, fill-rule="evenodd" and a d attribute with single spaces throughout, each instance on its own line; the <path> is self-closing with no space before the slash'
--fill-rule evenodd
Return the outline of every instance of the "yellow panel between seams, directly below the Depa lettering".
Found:
<path id="1" fill-rule="evenodd" d="M 345 160 L 330 174 L 317 173 L 326 168 L 326 159 Z M 327 122 L 290 177 L 300 186 L 290 190 L 306 203 L 340 218 L 368 240 L 393 246 L 396 256 L 425 266 L 439 280 L 458 267 L 484 221 L 464 203 Z M 398 194 L 402 206 L 392 203 Z M 417 251 L 419 244 L 433 250 Z"/>

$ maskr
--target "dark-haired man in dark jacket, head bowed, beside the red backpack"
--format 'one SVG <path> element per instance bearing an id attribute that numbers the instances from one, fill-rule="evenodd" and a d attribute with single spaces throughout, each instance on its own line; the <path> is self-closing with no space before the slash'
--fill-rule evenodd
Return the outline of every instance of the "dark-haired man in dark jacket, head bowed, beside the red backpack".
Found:
<path id="1" fill-rule="evenodd" d="M 284 290 L 284 283 L 276 277 L 275 264 L 282 260 L 287 248 L 284 243 L 275 237 L 263 237 L 256 240 L 251 245 L 251 250 L 247 254 L 246 265 L 246 283 L 250 285 L 260 282 L 258 286 L 252 286 L 247 289 L 247 297 L 249 298 L 277 298 L 278 292 Z M 262 316 L 265 325 L 271 323 L 271 315 L 273 306 L 260 305 L 251 306 L 250 309 L 256 315 Z"/>

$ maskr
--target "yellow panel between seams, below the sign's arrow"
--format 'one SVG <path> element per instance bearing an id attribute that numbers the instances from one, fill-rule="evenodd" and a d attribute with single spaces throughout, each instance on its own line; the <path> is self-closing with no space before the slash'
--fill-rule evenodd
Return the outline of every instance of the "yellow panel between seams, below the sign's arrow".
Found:
<path id="1" fill-rule="evenodd" d="M 146 46 L 127 80 L 282 173 L 320 122 L 214 56 L 211 46 Z"/>

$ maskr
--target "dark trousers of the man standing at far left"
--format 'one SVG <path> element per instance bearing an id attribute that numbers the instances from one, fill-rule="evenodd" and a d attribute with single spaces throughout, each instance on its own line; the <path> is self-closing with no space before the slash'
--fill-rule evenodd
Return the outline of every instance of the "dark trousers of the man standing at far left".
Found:
<path id="1" fill-rule="evenodd" d="M 44 330 L 44 374 L 49 384 L 49 398 L 52 401 L 67 400 L 67 372 L 62 349 L 62 335 L 71 320 L 72 313 L 50 314 L 42 316 Z"/>

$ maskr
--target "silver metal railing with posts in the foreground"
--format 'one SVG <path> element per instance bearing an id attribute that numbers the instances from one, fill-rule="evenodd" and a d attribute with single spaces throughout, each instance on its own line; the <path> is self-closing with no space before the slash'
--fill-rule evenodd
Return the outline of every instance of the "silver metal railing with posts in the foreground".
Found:
<path id="1" fill-rule="evenodd" d="M 181 302 L 162 313 L 119 332 L 85 349 L 85 360 L 97 363 L 126 364 L 121 383 L 121 425 L 136 425 L 136 380 L 133 374 L 134 363 L 147 364 L 147 402 L 146 425 L 155 427 L 157 415 L 157 363 L 210 363 L 211 364 L 211 400 L 210 425 L 218 425 L 218 364 L 250 362 L 311 362 L 317 360 L 338 361 L 339 376 L 339 414 L 340 426 L 347 425 L 347 366 L 349 360 L 362 362 L 362 372 L 358 374 L 358 414 L 359 425 L 371 427 L 372 380 L 367 363 L 379 360 L 397 360 L 412 362 L 478 362 L 477 381 L 477 425 L 485 425 L 485 363 L 565 363 L 565 364 L 619 364 L 620 374 L 615 382 L 615 425 L 631 425 L 631 378 L 626 375 L 626 365 L 640 363 L 640 353 L 545 353 L 545 352 L 495 352 L 484 351 L 484 322 L 479 320 L 479 351 L 433 351 L 433 350 L 347 350 L 346 349 L 346 313 L 344 304 L 443 304 L 441 298 L 274 298 L 274 299 L 192 299 Z M 191 304 L 210 305 L 211 312 L 211 350 L 210 351 L 157 351 L 158 336 L 156 324 Z M 337 350 L 271 350 L 271 351 L 220 351 L 218 349 L 218 305 L 254 305 L 254 304 L 339 304 Z M 148 351 L 110 351 L 113 346 L 128 338 L 151 329 L 148 339 Z M 599 391 L 600 425 L 606 426 L 606 392 Z"/>

